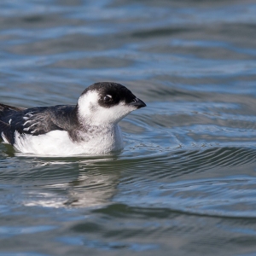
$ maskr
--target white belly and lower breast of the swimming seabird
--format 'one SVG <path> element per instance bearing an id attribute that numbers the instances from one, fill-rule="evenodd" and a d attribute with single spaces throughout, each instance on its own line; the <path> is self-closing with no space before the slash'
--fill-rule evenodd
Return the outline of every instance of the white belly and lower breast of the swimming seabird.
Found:
<path id="1" fill-rule="evenodd" d="M 87 142 L 73 142 L 67 131 L 49 131 L 46 134 L 32 136 L 15 133 L 14 147 L 22 153 L 67 156 L 73 154 L 107 154 L 124 148 L 122 133 L 118 125 L 91 136 Z"/>

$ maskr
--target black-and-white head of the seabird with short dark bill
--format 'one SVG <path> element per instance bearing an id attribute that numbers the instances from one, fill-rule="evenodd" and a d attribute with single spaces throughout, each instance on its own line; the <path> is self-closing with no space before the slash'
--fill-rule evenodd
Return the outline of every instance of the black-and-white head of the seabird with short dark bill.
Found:
<path id="1" fill-rule="evenodd" d="M 128 113 L 146 104 L 124 85 L 102 82 L 90 85 L 79 97 L 79 119 L 89 125 L 117 124 Z"/>

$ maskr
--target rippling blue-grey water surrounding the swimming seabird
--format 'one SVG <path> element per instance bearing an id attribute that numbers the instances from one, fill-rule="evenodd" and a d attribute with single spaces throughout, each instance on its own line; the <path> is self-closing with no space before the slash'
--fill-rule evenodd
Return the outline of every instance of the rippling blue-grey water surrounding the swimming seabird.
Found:
<path id="1" fill-rule="evenodd" d="M 121 154 L 0 144 L 0 255 L 255 255 L 256 1 L 0 3 L 1 102 L 75 104 L 97 81 L 148 107 Z"/>

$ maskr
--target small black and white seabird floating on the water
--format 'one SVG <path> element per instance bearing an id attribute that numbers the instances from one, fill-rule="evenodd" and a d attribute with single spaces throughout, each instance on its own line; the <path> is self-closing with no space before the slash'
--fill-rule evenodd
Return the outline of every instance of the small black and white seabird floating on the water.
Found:
<path id="1" fill-rule="evenodd" d="M 124 148 L 119 121 L 146 107 L 124 85 L 90 85 L 77 105 L 15 108 L 0 103 L 0 136 L 22 153 L 106 154 Z"/>

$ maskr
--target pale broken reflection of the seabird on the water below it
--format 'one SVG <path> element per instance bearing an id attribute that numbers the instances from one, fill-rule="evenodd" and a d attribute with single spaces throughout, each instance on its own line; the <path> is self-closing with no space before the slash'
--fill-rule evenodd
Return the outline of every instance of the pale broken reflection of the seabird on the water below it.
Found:
<path id="1" fill-rule="evenodd" d="M 27 175 L 26 182 L 35 175 L 39 180 L 23 191 L 21 203 L 27 207 L 103 207 L 110 203 L 119 183 L 119 170 L 106 172 L 102 167 L 102 161 L 109 165 L 113 160 L 32 160 L 35 173 Z"/>

